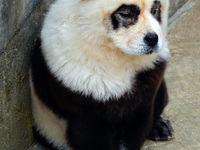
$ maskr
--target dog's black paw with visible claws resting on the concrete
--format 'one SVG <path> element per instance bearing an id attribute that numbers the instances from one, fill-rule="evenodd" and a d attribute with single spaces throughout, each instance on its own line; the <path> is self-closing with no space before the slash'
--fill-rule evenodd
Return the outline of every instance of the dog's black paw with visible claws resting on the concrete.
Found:
<path id="1" fill-rule="evenodd" d="M 153 141 L 168 141 L 174 139 L 174 130 L 169 120 L 160 118 L 150 132 L 149 139 Z"/>

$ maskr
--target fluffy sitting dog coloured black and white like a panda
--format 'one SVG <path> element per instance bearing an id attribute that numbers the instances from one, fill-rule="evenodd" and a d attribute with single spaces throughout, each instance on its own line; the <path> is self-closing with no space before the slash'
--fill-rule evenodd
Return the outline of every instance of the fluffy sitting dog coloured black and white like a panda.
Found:
<path id="1" fill-rule="evenodd" d="M 33 131 L 58 150 L 170 140 L 168 0 L 57 0 L 32 53 Z"/>

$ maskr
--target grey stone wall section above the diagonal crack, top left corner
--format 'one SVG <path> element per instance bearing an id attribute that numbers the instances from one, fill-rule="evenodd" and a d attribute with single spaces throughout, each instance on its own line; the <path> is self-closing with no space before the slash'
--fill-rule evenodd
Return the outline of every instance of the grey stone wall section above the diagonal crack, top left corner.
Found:
<path id="1" fill-rule="evenodd" d="M 0 51 L 5 49 L 6 43 L 21 30 L 21 25 L 31 14 L 33 8 L 39 5 L 39 2 L 39 0 L 0 1 Z"/>

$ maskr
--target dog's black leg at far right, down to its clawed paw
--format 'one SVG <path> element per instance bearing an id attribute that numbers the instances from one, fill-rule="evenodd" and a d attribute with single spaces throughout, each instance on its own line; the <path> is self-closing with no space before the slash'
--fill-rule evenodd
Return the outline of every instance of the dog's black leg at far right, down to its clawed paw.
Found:
<path id="1" fill-rule="evenodd" d="M 172 140 L 174 138 L 174 130 L 169 120 L 160 117 L 165 106 L 168 103 L 168 93 L 165 81 L 163 80 L 155 99 L 154 105 L 154 123 L 149 138 L 153 141 Z"/>

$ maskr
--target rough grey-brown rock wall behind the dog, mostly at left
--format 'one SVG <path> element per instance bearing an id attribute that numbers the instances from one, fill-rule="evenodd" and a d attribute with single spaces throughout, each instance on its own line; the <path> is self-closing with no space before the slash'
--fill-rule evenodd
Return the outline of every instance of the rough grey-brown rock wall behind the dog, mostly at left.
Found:
<path id="1" fill-rule="evenodd" d="M 171 0 L 169 16 L 193 0 Z M 34 39 L 53 0 L 0 0 L 0 149 L 32 144 L 28 65 Z"/>

